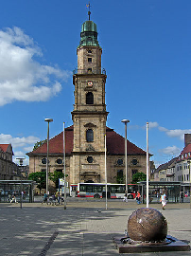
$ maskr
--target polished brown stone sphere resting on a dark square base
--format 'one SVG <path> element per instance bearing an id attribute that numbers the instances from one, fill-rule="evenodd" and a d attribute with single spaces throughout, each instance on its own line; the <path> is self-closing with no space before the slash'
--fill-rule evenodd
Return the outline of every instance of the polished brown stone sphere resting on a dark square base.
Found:
<path id="1" fill-rule="evenodd" d="M 167 235 L 167 222 L 159 210 L 141 208 L 130 215 L 128 234 L 134 241 L 163 242 Z"/>

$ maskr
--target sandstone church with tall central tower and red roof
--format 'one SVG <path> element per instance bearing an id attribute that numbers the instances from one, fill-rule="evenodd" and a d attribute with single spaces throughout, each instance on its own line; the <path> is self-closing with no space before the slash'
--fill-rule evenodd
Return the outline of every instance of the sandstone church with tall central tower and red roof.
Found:
<path id="1" fill-rule="evenodd" d="M 78 69 L 74 71 L 75 104 L 73 125 L 65 128 L 65 166 L 69 185 L 79 182 L 105 182 L 105 137 L 108 183 L 125 183 L 125 138 L 106 126 L 106 71 L 101 66 L 102 48 L 97 41 L 96 24 L 83 23 L 77 47 Z M 71 102 L 72 103 L 72 102 Z M 146 174 L 147 154 L 128 140 L 128 180 L 133 174 Z M 28 153 L 29 173 L 46 170 L 44 143 Z M 49 172 L 63 172 L 63 132 L 49 140 Z"/>

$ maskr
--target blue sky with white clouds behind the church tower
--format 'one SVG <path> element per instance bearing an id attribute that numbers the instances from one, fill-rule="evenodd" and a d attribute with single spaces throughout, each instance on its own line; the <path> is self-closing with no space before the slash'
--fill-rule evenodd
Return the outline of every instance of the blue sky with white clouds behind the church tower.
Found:
<path id="1" fill-rule="evenodd" d="M 83 0 L 1 1 L 0 143 L 15 157 L 72 125 L 72 71 L 80 29 L 88 19 Z M 191 133 L 191 1 L 92 0 L 102 66 L 107 72 L 107 125 L 149 152 L 156 165 L 179 155 Z M 15 160 L 15 162 L 17 162 Z M 28 159 L 26 158 L 26 162 Z"/>

